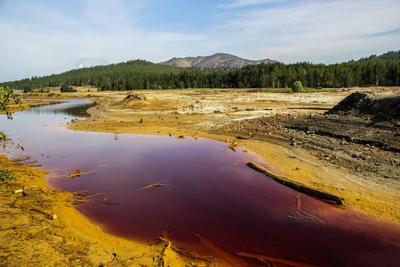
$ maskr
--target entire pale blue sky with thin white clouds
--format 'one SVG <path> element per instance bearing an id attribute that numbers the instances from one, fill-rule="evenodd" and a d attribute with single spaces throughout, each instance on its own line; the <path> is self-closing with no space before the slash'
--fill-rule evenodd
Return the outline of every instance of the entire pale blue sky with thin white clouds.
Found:
<path id="1" fill-rule="evenodd" d="M 399 0 L 0 0 L 0 81 L 216 52 L 333 63 L 400 49 Z"/>

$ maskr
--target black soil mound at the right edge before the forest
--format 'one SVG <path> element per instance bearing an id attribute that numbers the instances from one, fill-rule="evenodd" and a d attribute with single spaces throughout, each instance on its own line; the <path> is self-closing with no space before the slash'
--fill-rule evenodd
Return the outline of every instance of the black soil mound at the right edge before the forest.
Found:
<path id="1" fill-rule="evenodd" d="M 400 120 L 400 95 L 378 97 L 372 93 L 352 93 L 328 114 L 368 115 L 380 120 Z"/>

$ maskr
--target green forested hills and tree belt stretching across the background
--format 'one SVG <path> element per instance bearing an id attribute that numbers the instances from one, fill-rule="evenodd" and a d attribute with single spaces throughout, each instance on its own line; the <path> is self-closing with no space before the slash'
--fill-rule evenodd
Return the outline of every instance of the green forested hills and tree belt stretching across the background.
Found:
<path id="1" fill-rule="evenodd" d="M 399 86 L 400 51 L 338 64 L 259 64 L 240 69 L 180 69 L 146 61 L 76 69 L 45 77 L 3 83 L 16 89 L 90 85 L 101 90 L 168 88 Z"/>

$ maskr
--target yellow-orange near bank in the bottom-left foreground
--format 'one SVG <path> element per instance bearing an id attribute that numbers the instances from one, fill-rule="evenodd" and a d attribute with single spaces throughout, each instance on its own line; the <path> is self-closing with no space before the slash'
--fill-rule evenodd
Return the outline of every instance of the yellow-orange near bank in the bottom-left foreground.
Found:
<path id="1" fill-rule="evenodd" d="M 54 104 L 26 101 L 26 108 Z M 13 112 L 23 111 L 12 107 Z M 74 194 L 50 186 L 47 171 L 0 154 L 0 168 L 15 179 L 0 181 L 0 262 L 7 266 L 228 266 L 176 248 L 107 233 L 74 205 Z"/>

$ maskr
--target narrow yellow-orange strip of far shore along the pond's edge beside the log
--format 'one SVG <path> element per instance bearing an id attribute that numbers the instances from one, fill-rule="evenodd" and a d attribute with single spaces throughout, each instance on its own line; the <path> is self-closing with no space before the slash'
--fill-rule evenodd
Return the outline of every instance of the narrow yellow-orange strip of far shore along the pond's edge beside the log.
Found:
<path id="1" fill-rule="evenodd" d="M 75 131 L 92 131 L 112 134 L 138 134 L 138 135 L 164 135 L 172 137 L 185 136 L 190 138 L 207 138 L 225 142 L 228 147 L 231 142 L 237 142 L 239 148 L 251 151 L 260 156 L 269 167 L 271 173 L 284 176 L 290 181 L 301 183 L 309 188 L 322 190 L 344 199 L 344 208 L 349 208 L 374 219 L 400 225 L 400 205 L 396 204 L 398 196 L 389 191 L 381 191 L 375 188 L 375 184 L 359 184 L 351 175 L 343 174 L 340 170 L 332 170 L 321 166 L 315 159 L 307 155 L 301 149 L 293 149 L 282 144 L 268 143 L 259 140 L 237 139 L 235 136 L 213 134 L 207 132 L 190 131 L 174 128 L 159 128 L 151 130 L 144 128 L 113 129 L 111 127 L 93 129 L 85 125 L 84 121 L 77 121 L 69 125 L 69 129 Z M 282 165 L 285 161 L 285 165 Z M 300 169 L 300 171 L 298 171 Z M 299 172 L 301 176 L 299 176 Z M 316 175 L 316 173 L 318 173 Z M 345 178 L 342 178 L 345 177 Z M 361 188 L 362 186 L 363 188 Z M 346 192 L 346 191 L 347 192 Z M 366 197 L 368 196 L 368 197 Z M 360 202 L 360 198 L 363 201 Z"/>

